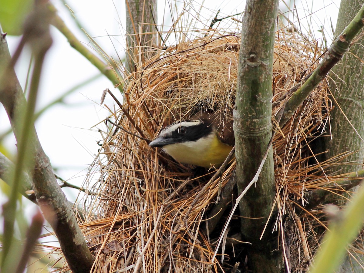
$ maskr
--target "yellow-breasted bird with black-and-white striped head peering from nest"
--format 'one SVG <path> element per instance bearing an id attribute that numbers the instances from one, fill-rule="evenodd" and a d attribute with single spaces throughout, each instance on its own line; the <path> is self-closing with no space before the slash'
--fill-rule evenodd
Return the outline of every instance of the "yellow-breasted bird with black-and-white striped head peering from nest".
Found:
<path id="1" fill-rule="evenodd" d="M 149 145 L 162 147 L 181 163 L 218 167 L 235 144 L 232 124 L 232 119 L 226 121 L 217 115 L 199 113 L 163 128 Z"/>

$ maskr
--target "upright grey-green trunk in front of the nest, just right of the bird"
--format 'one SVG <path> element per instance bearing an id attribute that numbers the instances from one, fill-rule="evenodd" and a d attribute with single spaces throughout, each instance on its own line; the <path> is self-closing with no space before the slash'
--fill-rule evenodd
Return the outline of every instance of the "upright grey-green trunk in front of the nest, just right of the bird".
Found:
<path id="1" fill-rule="evenodd" d="M 272 136 L 272 68 L 278 0 L 247 1 L 239 52 L 234 131 L 236 176 L 241 192 L 252 180 Z M 276 195 L 272 149 L 257 185 L 239 204 L 241 231 L 252 243 L 248 264 L 252 272 L 281 272 L 282 255 L 270 227 L 260 240 Z"/>

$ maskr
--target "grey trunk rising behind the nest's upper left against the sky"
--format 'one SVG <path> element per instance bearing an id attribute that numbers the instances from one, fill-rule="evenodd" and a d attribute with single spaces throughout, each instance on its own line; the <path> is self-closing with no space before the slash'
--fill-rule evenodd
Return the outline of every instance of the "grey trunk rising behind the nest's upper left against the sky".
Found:
<path id="1" fill-rule="evenodd" d="M 127 73 L 143 60 L 148 48 L 155 47 L 157 32 L 157 1 L 126 0 L 126 64 Z"/>

